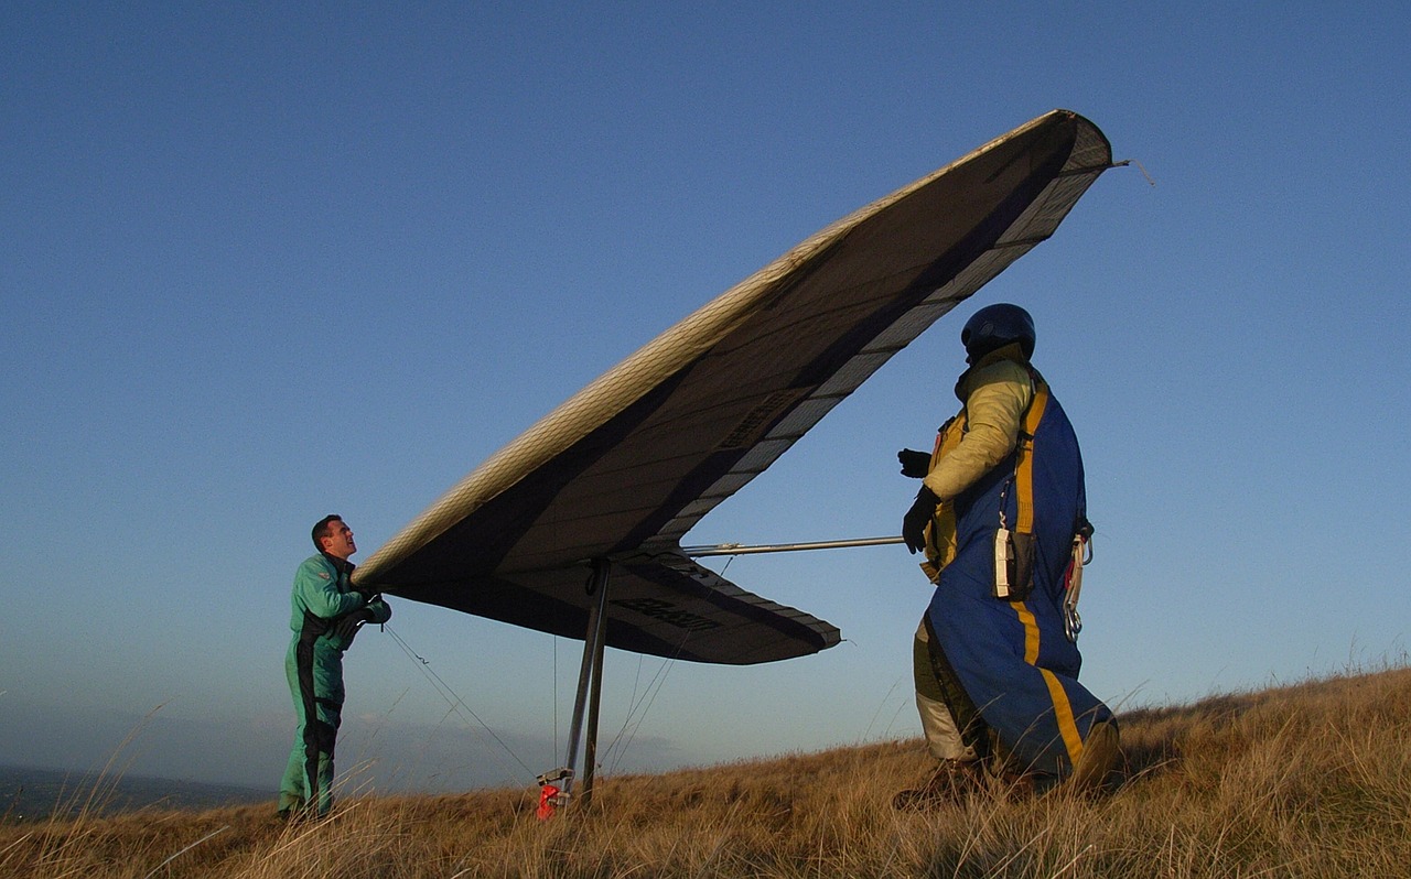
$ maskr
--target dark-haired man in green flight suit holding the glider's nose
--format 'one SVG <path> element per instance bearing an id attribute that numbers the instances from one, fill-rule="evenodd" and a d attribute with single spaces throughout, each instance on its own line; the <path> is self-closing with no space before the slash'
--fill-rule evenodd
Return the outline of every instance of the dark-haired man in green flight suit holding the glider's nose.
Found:
<path id="1" fill-rule="evenodd" d="M 343 711 L 343 652 L 364 622 L 387 622 L 392 610 L 382 597 L 353 584 L 357 552 L 353 529 L 339 515 L 313 526 L 319 554 L 293 574 L 289 628 L 293 639 L 284 660 L 298 728 L 293 752 L 279 783 L 279 816 L 325 817 L 333 807 L 333 744 Z"/>

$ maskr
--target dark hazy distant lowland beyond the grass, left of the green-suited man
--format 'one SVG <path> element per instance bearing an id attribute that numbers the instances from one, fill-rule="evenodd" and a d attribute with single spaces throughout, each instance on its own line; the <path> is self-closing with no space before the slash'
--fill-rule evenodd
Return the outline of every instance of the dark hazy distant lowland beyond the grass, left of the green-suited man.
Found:
<path id="1" fill-rule="evenodd" d="M 0 765 L 0 816 L 6 821 L 31 821 L 54 813 L 113 814 L 138 808 L 199 810 L 258 803 L 274 794 L 236 784 L 205 784 L 145 776 L 103 777 L 83 772 Z"/>

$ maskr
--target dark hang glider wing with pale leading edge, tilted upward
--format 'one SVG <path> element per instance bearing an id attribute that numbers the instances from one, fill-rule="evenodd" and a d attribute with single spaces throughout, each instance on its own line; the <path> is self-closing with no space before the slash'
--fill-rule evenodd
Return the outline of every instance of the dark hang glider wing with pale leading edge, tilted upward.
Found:
<path id="1" fill-rule="evenodd" d="M 358 583 L 693 662 L 838 643 L 832 625 L 693 562 L 682 536 L 1051 236 L 1110 166 L 1102 131 L 1054 110 L 838 220 L 491 456 L 358 567 Z M 608 566 L 611 597 L 605 574 L 590 594 Z"/>

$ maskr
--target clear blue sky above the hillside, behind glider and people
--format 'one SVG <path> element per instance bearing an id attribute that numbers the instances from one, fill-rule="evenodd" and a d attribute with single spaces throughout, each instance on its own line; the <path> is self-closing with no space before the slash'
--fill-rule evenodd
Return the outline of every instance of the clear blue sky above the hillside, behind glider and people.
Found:
<path id="1" fill-rule="evenodd" d="M 102 765 L 150 715 L 133 772 L 272 790 L 315 519 L 370 556 L 662 329 L 1053 107 L 1156 186 L 1103 175 L 687 540 L 896 533 L 895 451 L 955 408 L 965 315 L 1013 301 L 1084 443 L 1096 693 L 1403 662 L 1411 11 L 1068 7 L 6 3 L 0 762 Z M 847 642 L 610 652 L 608 770 L 919 732 L 904 550 L 727 576 Z M 430 665 L 358 638 L 343 768 L 457 789 L 562 762 L 580 642 L 394 605 Z"/>

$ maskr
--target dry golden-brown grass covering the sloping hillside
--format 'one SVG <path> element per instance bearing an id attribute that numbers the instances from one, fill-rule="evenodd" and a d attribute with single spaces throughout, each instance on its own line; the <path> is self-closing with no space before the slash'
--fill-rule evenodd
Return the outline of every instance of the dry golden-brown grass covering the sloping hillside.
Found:
<path id="1" fill-rule="evenodd" d="M 1122 717 L 1126 773 L 1098 799 L 998 784 L 931 811 L 892 794 L 920 741 L 536 792 L 356 797 L 316 824 L 274 806 L 7 823 L 0 875 L 289 878 L 1393 878 L 1411 875 L 1411 669 Z"/>

